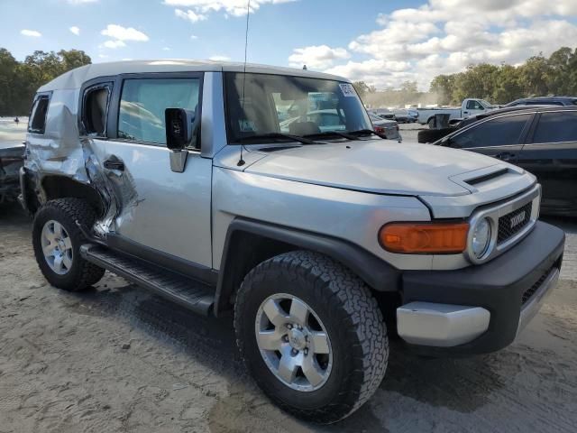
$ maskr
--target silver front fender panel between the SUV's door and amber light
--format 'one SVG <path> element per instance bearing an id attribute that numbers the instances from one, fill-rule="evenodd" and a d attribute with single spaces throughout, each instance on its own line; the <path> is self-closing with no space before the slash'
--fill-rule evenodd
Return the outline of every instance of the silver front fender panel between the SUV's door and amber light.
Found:
<path id="1" fill-rule="evenodd" d="M 384 196 L 214 168 L 213 263 L 220 268 L 226 231 L 234 217 L 266 220 L 347 240 L 398 269 L 431 269 L 433 256 L 384 251 L 380 227 L 391 221 L 430 221 L 417 198 Z"/>

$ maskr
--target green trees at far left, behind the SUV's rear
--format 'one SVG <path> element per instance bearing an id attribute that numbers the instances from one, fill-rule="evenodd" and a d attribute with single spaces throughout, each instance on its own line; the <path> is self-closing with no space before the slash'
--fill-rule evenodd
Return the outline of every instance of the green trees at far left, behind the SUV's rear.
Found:
<path id="1" fill-rule="evenodd" d="M 25 115 L 36 90 L 64 72 L 90 64 L 84 51 L 34 51 L 23 62 L 0 48 L 0 115 Z"/>

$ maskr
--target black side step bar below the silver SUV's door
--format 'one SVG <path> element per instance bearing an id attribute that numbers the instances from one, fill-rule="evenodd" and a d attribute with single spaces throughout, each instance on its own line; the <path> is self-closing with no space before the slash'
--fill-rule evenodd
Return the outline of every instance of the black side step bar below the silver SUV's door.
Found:
<path id="1" fill-rule="evenodd" d="M 80 255 L 88 262 L 198 314 L 208 316 L 213 309 L 215 290 L 199 281 L 96 244 L 80 246 Z"/>

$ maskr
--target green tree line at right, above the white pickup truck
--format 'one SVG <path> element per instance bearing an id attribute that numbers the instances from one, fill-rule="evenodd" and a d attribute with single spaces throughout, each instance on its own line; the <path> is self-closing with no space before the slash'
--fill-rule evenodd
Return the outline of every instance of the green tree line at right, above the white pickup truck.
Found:
<path id="1" fill-rule="evenodd" d="M 463 72 L 435 77 L 430 92 L 442 105 L 461 104 L 465 97 L 507 104 L 519 97 L 575 96 L 577 49 L 563 47 L 548 59 L 539 55 L 519 66 L 471 65 Z"/>

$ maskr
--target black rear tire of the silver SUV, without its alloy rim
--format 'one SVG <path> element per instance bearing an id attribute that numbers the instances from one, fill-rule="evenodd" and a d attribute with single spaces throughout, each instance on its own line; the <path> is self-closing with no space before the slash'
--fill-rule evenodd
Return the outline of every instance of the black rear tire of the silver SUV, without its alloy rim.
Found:
<path id="1" fill-rule="evenodd" d="M 50 269 L 44 253 L 42 253 L 41 232 L 47 221 L 59 222 L 68 233 L 72 242 L 72 266 L 64 275 Z M 50 200 L 42 206 L 34 217 L 32 226 L 32 246 L 36 262 L 44 278 L 54 287 L 69 291 L 85 290 L 105 274 L 105 270 L 95 264 L 88 263 L 80 256 L 80 245 L 87 242 L 86 237 L 78 228 L 76 221 L 85 227 L 93 226 L 96 220 L 95 210 L 80 198 L 58 198 Z"/>

